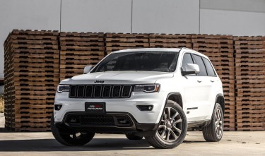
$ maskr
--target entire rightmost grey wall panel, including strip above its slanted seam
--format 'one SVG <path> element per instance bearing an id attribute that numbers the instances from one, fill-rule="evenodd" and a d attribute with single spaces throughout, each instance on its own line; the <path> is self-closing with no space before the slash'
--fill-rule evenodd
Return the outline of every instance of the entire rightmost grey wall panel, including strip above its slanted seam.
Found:
<path id="1" fill-rule="evenodd" d="M 201 0 L 200 33 L 265 35 L 265 1 Z"/>

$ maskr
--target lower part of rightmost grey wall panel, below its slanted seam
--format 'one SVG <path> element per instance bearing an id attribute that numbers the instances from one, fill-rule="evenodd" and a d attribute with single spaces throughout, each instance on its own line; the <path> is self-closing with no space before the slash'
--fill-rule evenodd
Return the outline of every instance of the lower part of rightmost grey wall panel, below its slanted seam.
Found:
<path id="1" fill-rule="evenodd" d="M 265 13 L 201 9 L 201 33 L 265 35 Z"/>

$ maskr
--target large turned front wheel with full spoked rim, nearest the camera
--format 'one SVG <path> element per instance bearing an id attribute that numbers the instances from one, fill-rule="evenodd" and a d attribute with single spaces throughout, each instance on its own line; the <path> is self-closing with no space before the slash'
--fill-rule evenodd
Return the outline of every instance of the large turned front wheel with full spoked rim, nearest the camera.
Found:
<path id="1" fill-rule="evenodd" d="M 175 148 L 183 142 L 186 133 L 187 118 L 182 107 L 177 102 L 167 100 L 155 135 L 145 138 L 154 148 Z"/>

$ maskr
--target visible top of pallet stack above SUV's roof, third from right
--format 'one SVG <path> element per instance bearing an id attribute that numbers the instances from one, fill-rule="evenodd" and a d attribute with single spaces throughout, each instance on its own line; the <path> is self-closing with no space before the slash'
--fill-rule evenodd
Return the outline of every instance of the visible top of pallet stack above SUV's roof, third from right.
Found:
<path id="1" fill-rule="evenodd" d="M 151 34 L 151 48 L 192 48 L 192 35 L 183 34 Z"/>

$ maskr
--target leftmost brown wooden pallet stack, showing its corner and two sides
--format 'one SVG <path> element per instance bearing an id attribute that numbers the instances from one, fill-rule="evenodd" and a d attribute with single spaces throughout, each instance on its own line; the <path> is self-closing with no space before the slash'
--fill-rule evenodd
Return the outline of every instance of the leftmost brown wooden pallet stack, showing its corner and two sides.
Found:
<path id="1" fill-rule="evenodd" d="M 11 131 L 49 131 L 59 83 L 59 32 L 13 30 L 4 43 L 5 116 Z"/>

